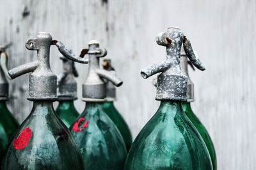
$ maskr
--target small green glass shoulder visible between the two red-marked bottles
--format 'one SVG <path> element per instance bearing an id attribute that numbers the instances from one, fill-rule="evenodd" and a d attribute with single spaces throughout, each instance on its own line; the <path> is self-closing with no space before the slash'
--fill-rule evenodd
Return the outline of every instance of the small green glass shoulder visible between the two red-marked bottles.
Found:
<path id="1" fill-rule="evenodd" d="M 74 101 L 60 101 L 59 106 L 56 108 L 56 114 L 68 128 L 79 116 L 74 106 Z"/>

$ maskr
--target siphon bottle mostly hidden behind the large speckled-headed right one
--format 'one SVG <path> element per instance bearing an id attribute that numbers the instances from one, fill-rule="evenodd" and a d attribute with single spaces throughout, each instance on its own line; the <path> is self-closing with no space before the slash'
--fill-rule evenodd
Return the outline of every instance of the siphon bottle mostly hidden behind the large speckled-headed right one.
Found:
<path id="1" fill-rule="evenodd" d="M 193 66 L 193 65 L 191 65 Z M 207 130 L 205 129 L 204 125 L 200 120 L 196 117 L 195 113 L 193 113 L 190 103 L 195 101 L 194 99 L 194 83 L 189 78 L 188 74 L 188 56 L 186 55 L 186 52 L 184 51 L 184 48 L 182 46 L 181 52 L 180 52 L 180 67 L 182 72 L 188 76 L 188 87 L 187 87 L 187 98 L 188 101 L 182 103 L 182 108 L 184 110 L 184 113 L 187 115 L 189 120 L 195 125 L 197 131 L 201 134 L 202 138 L 204 139 L 204 143 L 207 146 L 207 149 L 209 151 L 209 154 L 211 156 L 212 161 L 212 167 L 214 170 L 217 169 L 217 159 L 216 159 L 216 153 L 214 150 L 214 145 L 212 143 L 211 137 L 208 134 Z"/>

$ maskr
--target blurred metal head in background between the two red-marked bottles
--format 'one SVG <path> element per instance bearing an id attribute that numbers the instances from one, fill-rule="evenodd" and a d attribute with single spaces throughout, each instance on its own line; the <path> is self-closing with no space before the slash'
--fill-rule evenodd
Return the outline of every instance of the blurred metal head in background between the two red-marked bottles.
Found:
<path id="1" fill-rule="evenodd" d="M 77 99 L 77 83 L 74 77 L 78 76 L 74 61 L 60 56 L 63 62 L 63 72 L 57 76 L 57 96 L 59 101 L 74 101 Z"/>

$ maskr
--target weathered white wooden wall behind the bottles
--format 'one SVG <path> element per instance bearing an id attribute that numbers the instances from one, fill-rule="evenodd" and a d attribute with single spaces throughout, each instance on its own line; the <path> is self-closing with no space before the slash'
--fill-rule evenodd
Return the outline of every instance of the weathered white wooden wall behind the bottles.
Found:
<path id="1" fill-rule="evenodd" d="M 27 7 L 29 15 L 22 16 Z M 256 169 L 256 1 L 231 0 L 0 0 L 0 44 L 12 41 L 10 67 L 35 60 L 26 50 L 27 39 L 50 32 L 79 54 L 90 39 L 108 49 L 124 85 L 116 107 L 135 138 L 156 112 L 159 102 L 152 78 L 140 69 L 163 60 L 165 49 L 155 35 L 169 26 L 180 27 L 191 40 L 206 71 L 190 73 L 195 83 L 193 110 L 207 127 L 218 157 L 218 169 Z M 61 71 L 58 50 L 51 48 L 51 67 Z M 87 66 L 79 71 L 77 110 L 83 111 L 81 83 Z M 28 75 L 12 81 L 9 108 L 22 122 L 31 110 Z"/>

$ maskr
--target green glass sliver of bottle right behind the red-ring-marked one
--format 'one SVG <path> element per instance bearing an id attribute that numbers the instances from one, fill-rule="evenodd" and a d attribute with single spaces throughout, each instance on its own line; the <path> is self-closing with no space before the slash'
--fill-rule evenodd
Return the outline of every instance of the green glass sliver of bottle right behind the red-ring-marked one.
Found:
<path id="1" fill-rule="evenodd" d="M 132 134 L 122 115 L 116 110 L 113 101 L 107 101 L 103 105 L 104 111 L 116 125 L 124 138 L 126 149 L 129 151 L 132 145 Z"/>

